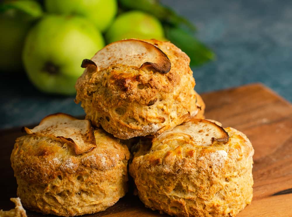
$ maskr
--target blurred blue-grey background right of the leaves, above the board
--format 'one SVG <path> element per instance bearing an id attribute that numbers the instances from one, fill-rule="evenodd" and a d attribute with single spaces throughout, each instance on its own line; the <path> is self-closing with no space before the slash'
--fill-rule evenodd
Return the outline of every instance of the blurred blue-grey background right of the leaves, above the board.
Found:
<path id="1" fill-rule="evenodd" d="M 217 60 L 193 68 L 198 92 L 263 82 L 292 101 L 292 1 L 163 1 L 198 26 Z"/>

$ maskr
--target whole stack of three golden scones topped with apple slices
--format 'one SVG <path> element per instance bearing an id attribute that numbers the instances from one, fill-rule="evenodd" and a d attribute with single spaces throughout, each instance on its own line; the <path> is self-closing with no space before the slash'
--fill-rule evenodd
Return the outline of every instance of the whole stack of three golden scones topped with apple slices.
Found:
<path id="1" fill-rule="evenodd" d="M 75 87 L 86 119 L 52 114 L 16 139 L 11 163 L 24 207 L 103 211 L 126 194 L 128 171 L 140 200 L 160 213 L 236 216 L 250 204 L 251 142 L 204 119 L 189 64 L 154 39 L 113 42 L 85 59 Z"/>

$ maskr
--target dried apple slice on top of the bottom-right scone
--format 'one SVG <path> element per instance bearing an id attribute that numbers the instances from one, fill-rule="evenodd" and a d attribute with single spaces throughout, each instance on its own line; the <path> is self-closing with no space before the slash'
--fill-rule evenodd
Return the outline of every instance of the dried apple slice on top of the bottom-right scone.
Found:
<path id="1" fill-rule="evenodd" d="M 228 133 L 218 124 L 204 119 L 191 119 L 173 130 L 164 132 L 153 141 L 162 141 L 173 137 L 187 137 L 196 145 L 209 146 L 215 141 L 226 143 L 229 140 Z"/>

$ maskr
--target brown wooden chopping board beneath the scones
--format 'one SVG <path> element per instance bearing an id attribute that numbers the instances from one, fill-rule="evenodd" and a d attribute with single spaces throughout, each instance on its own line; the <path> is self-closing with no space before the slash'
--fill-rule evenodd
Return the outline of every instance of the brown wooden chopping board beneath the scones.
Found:
<path id="1" fill-rule="evenodd" d="M 255 149 L 253 201 L 238 214 L 292 216 L 292 105 L 261 84 L 202 94 L 206 118 L 244 132 Z M 16 181 L 10 166 L 20 128 L 0 132 L 0 209 L 13 208 Z M 27 216 L 44 216 L 27 210 Z M 106 211 L 85 216 L 167 216 L 144 207 L 132 192 Z"/>

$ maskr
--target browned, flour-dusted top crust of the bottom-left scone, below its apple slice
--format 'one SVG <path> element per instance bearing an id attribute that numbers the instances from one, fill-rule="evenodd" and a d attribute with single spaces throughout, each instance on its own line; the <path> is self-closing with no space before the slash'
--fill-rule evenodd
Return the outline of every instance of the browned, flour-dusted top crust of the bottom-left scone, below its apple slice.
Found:
<path id="1" fill-rule="evenodd" d="M 129 159 L 128 148 L 119 139 L 102 129 L 95 129 L 94 137 L 96 147 L 83 154 L 76 154 L 74 144 L 62 137 L 40 133 L 19 137 L 11 154 L 12 168 L 27 182 L 46 184 L 59 175 L 82 175 L 88 168 L 109 170 Z"/>

